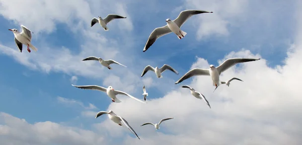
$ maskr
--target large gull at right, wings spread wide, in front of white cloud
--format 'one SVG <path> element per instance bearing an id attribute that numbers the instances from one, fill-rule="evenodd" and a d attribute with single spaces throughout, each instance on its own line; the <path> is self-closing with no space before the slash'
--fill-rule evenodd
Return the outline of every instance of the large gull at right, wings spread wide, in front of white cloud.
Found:
<path id="1" fill-rule="evenodd" d="M 260 58 L 259 58 L 260 59 Z M 221 84 L 219 81 L 220 74 L 229 69 L 233 65 L 237 63 L 249 62 L 249 61 L 256 61 L 259 59 L 254 58 L 229 58 L 226 59 L 222 64 L 220 64 L 217 68 L 214 65 L 210 65 L 209 69 L 203 68 L 193 68 L 188 73 L 186 73 L 183 77 L 181 77 L 175 84 L 181 83 L 182 81 L 189 79 L 193 76 L 210 76 L 213 81 L 213 86 L 217 87 Z"/>

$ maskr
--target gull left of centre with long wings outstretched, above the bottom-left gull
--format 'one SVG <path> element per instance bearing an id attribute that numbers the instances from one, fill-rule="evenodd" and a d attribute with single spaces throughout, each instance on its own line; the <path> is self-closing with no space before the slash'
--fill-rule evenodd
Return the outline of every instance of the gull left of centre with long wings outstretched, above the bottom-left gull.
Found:
<path id="1" fill-rule="evenodd" d="M 116 95 L 126 95 L 126 96 L 128 96 L 128 97 L 130 97 L 130 98 L 132 98 L 132 99 L 134 99 L 134 100 L 136 100 L 136 101 L 145 103 L 145 102 L 143 102 L 143 101 L 141 101 L 141 100 L 139 100 L 139 99 L 137 99 L 137 98 L 135 98 L 135 97 L 133 97 L 133 96 L 131 96 L 131 95 L 125 93 L 125 92 L 114 90 L 114 89 L 112 88 L 112 86 L 109 86 L 107 89 L 104 88 L 104 87 L 97 86 L 97 85 L 75 86 L 75 85 L 72 85 L 72 84 L 71 84 L 71 86 L 77 87 L 77 88 L 80 88 L 80 89 L 97 90 L 97 91 L 106 92 L 107 95 L 112 99 L 112 102 L 115 102 L 115 103 L 120 103 L 120 102 L 122 102 L 122 101 L 120 101 L 120 100 L 118 100 L 118 99 L 116 98 Z"/>

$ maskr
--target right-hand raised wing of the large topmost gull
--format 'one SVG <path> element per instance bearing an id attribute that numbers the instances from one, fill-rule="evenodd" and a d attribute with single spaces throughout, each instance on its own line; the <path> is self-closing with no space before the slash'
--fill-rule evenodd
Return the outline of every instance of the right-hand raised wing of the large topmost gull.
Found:
<path id="1" fill-rule="evenodd" d="M 190 17 L 201 13 L 213 13 L 213 12 L 202 11 L 202 10 L 185 10 L 180 12 L 178 17 L 173 21 L 180 28 Z"/>

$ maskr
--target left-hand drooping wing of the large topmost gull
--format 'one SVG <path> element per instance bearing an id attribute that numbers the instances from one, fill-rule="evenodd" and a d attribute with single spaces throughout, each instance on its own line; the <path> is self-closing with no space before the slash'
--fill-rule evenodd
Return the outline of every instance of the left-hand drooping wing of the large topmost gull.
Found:
<path id="1" fill-rule="evenodd" d="M 152 31 L 152 33 L 150 34 L 142 52 L 145 52 L 158 38 L 167 35 L 169 33 L 171 33 L 172 31 L 170 30 L 170 28 L 168 27 L 168 25 L 164 26 L 164 27 L 159 27 L 156 28 Z"/>

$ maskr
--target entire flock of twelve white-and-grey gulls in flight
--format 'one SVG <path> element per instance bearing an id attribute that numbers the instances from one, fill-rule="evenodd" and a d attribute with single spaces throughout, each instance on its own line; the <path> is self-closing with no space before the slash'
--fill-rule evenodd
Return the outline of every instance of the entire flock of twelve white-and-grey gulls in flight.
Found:
<path id="1" fill-rule="evenodd" d="M 202 14 L 202 13 L 213 13 L 213 12 L 208 12 L 208 11 L 202 11 L 202 10 L 185 10 L 185 11 L 182 11 L 179 16 L 175 19 L 175 20 L 170 20 L 170 19 L 166 19 L 166 22 L 167 22 L 167 25 L 166 26 L 163 26 L 163 27 L 159 27 L 159 28 L 156 28 L 154 29 L 154 31 L 150 34 L 144 48 L 143 48 L 143 52 L 145 52 L 150 46 L 152 46 L 152 44 L 160 37 L 164 36 L 164 35 L 167 35 L 171 32 L 175 33 L 177 35 L 177 37 L 179 39 L 182 39 L 183 37 L 186 36 L 186 32 L 182 31 L 180 29 L 180 27 L 193 15 L 197 15 L 197 14 Z M 102 19 L 100 16 L 99 18 L 93 18 L 91 20 L 91 27 L 94 26 L 96 23 L 99 23 L 103 29 L 105 31 L 108 31 L 108 27 L 107 27 L 107 24 L 109 22 L 111 22 L 112 20 L 114 19 L 125 19 L 126 17 L 122 17 L 122 16 L 118 16 L 118 15 L 115 15 L 115 14 L 109 14 L 105 19 Z M 20 52 L 22 52 L 22 47 L 23 47 L 23 44 L 24 45 L 27 45 L 27 50 L 28 52 L 31 52 L 30 48 L 32 48 L 34 51 L 37 51 L 38 49 L 33 46 L 31 44 L 31 31 L 26 28 L 25 26 L 21 25 L 21 28 L 22 28 L 22 32 L 19 32 L 17 29 L 9 29 L 10 31 L 12 31 L 14 33 L 14 36 L 15 36 L 15 42 L 16 42 L 16 45 L 17 47 L 19 48 Z M 260 59 L 260 58 L 259 58 Z M 215 86 L 215 90 L 217 89 L 217 87 L 221 84 L 226 84 L 226 85 L 230 85 L 230 82 L 233 81 L 233 80 L 239 80 L 239 81 L 242 81 L 238 78 L 232 78 L 231 80 L 229 81 L 220 81 L 219 80 L 219 76 L 220 74 L 225 71 L 226 69 L 232 67 L 233 65 L 237 64 L 237 63 L 242 63 L 242 62 L 248 62 L 248 61 L 255 61 L 255 60 L 259 60 L 259 59 L 254 59 L 254 58 L 230 58 L 230 59 L 226 59 L 222 64 L 220 64 L 218 67 L 215 67 L 214 65 L 210 65 L 209 69 L 203 69 L 203 68 L 194 68 L 194 69 L 191 69 L 190 71 L 188 71 L 184 76 L 182 76 L 177 82 L 175 82 L 175 84 L 178 84 L 178 83 L 181 83 L 182 81 L 186 80 L 186 79 L 189 79 L 193 76 L 210 76 L 212 81 L 213 81 L 213 86 Z M 112 67 L 110 66 L 110 64 L 119 64 L 119 65 L 122 65 L 124 67 L 127 67 L 115 60 L 112 60 L 112 59 L 108 59 L 108 60 L 104 60 L 100 57 L 95 57 L 95 56 L 90 56 L 90 57 L 87 57 L 85 59 L 83 59 L 83 61 L 86 61 L 86 60 L 97 60 L 99 61 L 103 66 L 107 67 L 108 69 L 112 69 Z M 164 64 L 161 68 L 159 67 L 152 67 L 150 65 L 147 65 L 143 71 L 142 71 L 142 74 L 141 74 L 141 77 L 143 77 L 147 71 L 154 71 L 154 73 L 156 74 L 156 76 L 158 78 L 163 78 L 162 76 L 162 73 L 164 73 L 164 71 L 166 70 L 171 70 L 173 71 L 175 74 L 179 74 L 178 71 L 176 71 L 174 68 L 172 68 L 170 65 L 168 64 Z M 72 84 L 71 84 L 72 85 Z M 97 90 L 97 91 L 102 91 L 102 92 L 106 92 L 108 97 L 110 97 L 112 99 L 112 102 L 115 102 L 115 103 L 120 103 L 121 101 L 116 97 L 116 95 L 125 95 L 125 96 L 128 96 L 136 101 L 139 101 L 139 102 L 142 102 L 142 103 L 145 103 L 146 101 L 146 97 L 148 96 L 148 93 L 146 92 L 146 89 L 145 89 L 145 86 L 143 85 L 143 98 L 144 98 L 144 101 L 141 101 L 125 92 L 122 92 L 122 91 L 118 91 L 118 90 L 114 90 L 112 86 L 109 86 L 108 88 L 104 88 L 104 87 L 101 87 L 101 86 L 97 86 L 97 85 L 89 85 L 89 86 L 75 86 L 75 85 L 72 85 L 74 87 L 77 87 L 77 88 L 80 88 L 80 89 L 88 89 L 88 90 Z M 182 86 L 182 88 L 188 88 L 190 89 L 191 91 L 191 94 L 198 98 L 198 99 L 201 99 L 203 100 L 207 106 L 209 108 L 210 107 L 210 104 L 209 102 L 206 100 L 206 98 L 204 97 L 204 95 L 202 95 L 201 93 L 195 91 L 195 89 L 191 88 L 190 86 L 188 85 L 184 85 Z M 214 90 L 214 91 L 215 91 Z M 103 114 L 108 114 L 108 117 L 110 120 L 112 120 L 113 122 L 117 123 L 118 125 L 121 125 L 122 126 L 122 122 L 123 124 L 125 124 L 125 126 L 134 134 L 138 137 L 138 135 L 136 134 L 136 132 L 133 130 L 133 128 L 129 125 L 129 123 L 124 119 L 122 118 L 121 116 L 118 116 L 116 115 L 112 110 L 109 110 L 108 112 L 107 111 L 100 111 L 97 113 L 97 115 L 95 116 L 95 118 L 98 118 L 99 116 L 103 115 Z M 169 119 L 173 119 L 173 118 L 165 118 L 165 119 L 162 119 L 159 123 L 151 123 L 151 122 L 146 122 L 144 124 L 142 124 L 141 126 L 143 125 L 146 125 L 146 124 L 151 124 L 151 125 L 154 125 L 156 130 L 160 128 L 160 124 L 163 122 L 163 121 L 166 121 L 166 120 L 169 120 Z M 140 139 L 140 138 L 139 138 Z"/>

